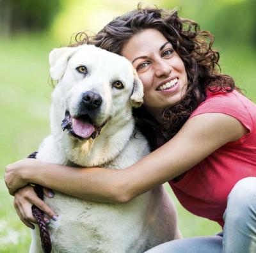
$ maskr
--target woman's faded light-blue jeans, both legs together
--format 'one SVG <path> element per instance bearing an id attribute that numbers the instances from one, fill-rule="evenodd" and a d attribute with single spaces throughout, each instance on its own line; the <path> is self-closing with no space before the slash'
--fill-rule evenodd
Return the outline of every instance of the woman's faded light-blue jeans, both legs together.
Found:
<path id="1" fill-rule="evenodd" d="M 256 178 L 244 178 L 228 195 L 223 237 L 197 236 L 168 241 L 147 253 L 255 253 Z"/>

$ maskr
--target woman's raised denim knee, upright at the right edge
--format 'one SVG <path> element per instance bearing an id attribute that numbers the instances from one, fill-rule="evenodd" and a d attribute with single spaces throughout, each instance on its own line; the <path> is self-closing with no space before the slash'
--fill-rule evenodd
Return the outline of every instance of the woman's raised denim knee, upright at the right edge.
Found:
<path id="1" fill-rule="evenodd" d="M 244 178 L 228 195 L 223 253 L 256 252 L 256 178 Z"/>

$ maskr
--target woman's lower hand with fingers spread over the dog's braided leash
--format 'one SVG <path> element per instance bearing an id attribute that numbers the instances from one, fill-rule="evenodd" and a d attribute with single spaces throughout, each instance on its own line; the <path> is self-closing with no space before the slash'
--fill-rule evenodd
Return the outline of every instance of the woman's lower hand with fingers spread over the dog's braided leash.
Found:
<path id="1" fill-rule="evenodd" d="M 44 188 L 44 194 L 47 197 L 54 196 L 51 190 L 47 188 Z M 35 229 L 35 226 L 32 224 L 32 223 L 36 223 L 36 220 L 33 217 L 32 210 L 31 210 L 31 207 L 33 204 L 38 208 L 40 208 L 40 210 L 44 211 L 46 215 L 45 222 L 47 224 L 50 223 L 50 220 L 47 217 L 50 217 L 56 220 L 57 218 L 56 213 L 54 213 L 54 211 L 52 211 L 51 208 L 49 208 L 49 206 L 47 206 L 47 204 L 45 204 L 44 201 L 42 201 L 42 199 L 40 199 L 36 195 L 33 187 L 28 185 L 26 187 L 19 188 L 19 190 L 15 192 L 14 201 L 13 201 L 13 205 L 17 211 L 17 214 L 20 217 L 20 220 L 26 226 L 30 227 L 31 229 Z"/>

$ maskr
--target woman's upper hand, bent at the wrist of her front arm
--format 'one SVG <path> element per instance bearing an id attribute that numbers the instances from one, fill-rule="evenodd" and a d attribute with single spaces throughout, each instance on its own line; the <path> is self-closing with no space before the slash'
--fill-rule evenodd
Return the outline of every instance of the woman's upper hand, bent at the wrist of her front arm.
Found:
<path id="1" fill-rule="evenodd" d="M 26 181 L 26 177 L 24 175 L 26 173 L 35 172 L 36 167 L 42 164 L 43 162 L 39 160 L 26 158 L 23 160 L 19 160 L 14 164 L 7 165 L 4 175 L 4 181 L 6 183 L 6 187 L 9 190 L 9 193 L 11 195 L 14 195 L 17 189 L 27 185 L 29 182 Z"/>

